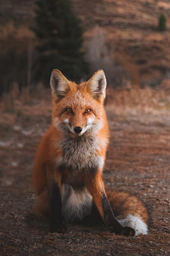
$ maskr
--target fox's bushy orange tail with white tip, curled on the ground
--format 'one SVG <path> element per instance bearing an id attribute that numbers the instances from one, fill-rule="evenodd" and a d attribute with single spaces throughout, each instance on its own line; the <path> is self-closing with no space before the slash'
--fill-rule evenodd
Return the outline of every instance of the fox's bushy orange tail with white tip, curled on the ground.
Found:
<path id="1" fill-rule="evenodd" d="M 147 209 L 135 196 L 118 191 L 106 191 L 113 213 L 123 227 L 133 228 L 135 235 L 147 235 Z"/>

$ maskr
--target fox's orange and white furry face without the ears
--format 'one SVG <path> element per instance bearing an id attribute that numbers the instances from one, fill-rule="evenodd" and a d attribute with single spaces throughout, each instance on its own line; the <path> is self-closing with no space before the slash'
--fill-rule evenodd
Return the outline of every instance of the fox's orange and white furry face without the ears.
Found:
<path id="1" fill-rule="evenodd" d="M 72 113 L 67 112 L 67 108 L 72 109 Z M 91 112 L 86 113 L 86 109 Z M 105 112 L 103 112 L 100 102 L 94 100 L 84 89 L 84 83 L 79 87 L 72 83 L 72 90 L 64 99 L 55 104 L 52 114 L 52 124 L 59 130 L 64 130 L 65 134 L 70 137 L 81 136 L 86 132 L 89 136 L 95 136 L 101 130 L 106 122 Z M 81 127 L 81 133 L 74 132 L 74 127 Z"/>

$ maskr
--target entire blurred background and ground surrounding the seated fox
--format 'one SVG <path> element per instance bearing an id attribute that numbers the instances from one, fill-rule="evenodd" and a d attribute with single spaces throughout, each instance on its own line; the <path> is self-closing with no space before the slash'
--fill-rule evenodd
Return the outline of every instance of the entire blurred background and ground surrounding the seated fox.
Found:
<path id="1" fill-rule="evenodd" d="M 0 255 L 170 255 L 169 22 L 169 0 L 0 0 Z M 35 216 L 31 171 L 51 124 L 53 68 L 77 83 L 105 71 L 103 178 L 147 205 L 149 235 L 81 225 L 50 235 Z"/>

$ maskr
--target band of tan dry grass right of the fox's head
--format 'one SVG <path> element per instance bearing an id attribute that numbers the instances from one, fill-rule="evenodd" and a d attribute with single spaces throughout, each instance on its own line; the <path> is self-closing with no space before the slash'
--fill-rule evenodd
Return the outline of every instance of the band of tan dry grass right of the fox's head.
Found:
<path id="1" fill-rule="evenodd" d="M 138 112 L 160 114 L 170 110 L 170 90 L 152 90 L 130 88 L 129 90 L 112 90 L 108 88 L 106 109 L 113 108 L 116 113 Z"/>

